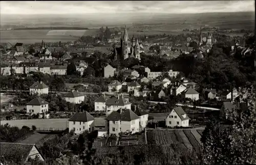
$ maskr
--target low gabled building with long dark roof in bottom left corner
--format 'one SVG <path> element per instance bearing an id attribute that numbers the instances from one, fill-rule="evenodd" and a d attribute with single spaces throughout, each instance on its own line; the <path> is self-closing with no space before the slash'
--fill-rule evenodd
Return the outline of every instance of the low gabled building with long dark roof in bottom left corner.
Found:
<path id="1" fill-rule="evenodd" d="M 45 161 L 44 156 L 40 153 L 35 144 L 1 142 L 1 158 L 2 157 L 4 157 L 6 161 L 12 161 L 13 158 L 16 157 L 23 157 L 25 162 L 27 162 L 29 158 L 38 158 L 41 161 Z"/>

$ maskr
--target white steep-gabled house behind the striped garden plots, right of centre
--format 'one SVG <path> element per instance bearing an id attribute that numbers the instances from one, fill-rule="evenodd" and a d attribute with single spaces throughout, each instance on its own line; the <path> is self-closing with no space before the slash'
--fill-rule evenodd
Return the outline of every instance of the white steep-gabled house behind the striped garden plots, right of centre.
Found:
<path id="1" fill-rule="evenodd" d="M 167 127 L 175 127 L 175 126 L 188 127 L 189 126 L 189 117 L 184 112 L 182 107 L 174 108 L 168 114 L 165 121 L 166 121 Z"/>

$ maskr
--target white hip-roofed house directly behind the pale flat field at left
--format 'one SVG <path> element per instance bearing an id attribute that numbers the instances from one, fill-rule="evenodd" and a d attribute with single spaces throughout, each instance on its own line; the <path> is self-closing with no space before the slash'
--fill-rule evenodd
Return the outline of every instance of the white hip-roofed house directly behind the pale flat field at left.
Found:
<path id="1" fill-rule="evenodd" d="M 49 108 L 48 107 L 49 103 L 39 97 L 31 100 L 26 105 L 27 105 L 27 113 L 32 113 L 32 114 L 46 113 L 48 112 L 48 108 Z"/>

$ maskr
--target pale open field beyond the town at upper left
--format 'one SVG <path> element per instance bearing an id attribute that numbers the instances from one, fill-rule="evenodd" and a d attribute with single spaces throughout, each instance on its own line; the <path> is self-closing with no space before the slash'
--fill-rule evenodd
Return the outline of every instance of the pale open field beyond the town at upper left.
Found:
<path id="1" fill-rule="evenodd" d="M 1 31 L 1 43 L 22 42 L 25 44 L 41 42 L 74 41 L 82 35 L 96 35 L 98 30 L 9 30 Z"/>

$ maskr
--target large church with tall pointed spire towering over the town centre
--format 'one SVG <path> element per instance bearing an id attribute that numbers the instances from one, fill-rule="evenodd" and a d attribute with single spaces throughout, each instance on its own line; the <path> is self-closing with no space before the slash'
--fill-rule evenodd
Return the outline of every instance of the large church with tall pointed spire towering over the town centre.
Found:
<path id="1" fill-rule="evenodd" d="M 125 60 L 126 58 L 137 58 L 140 60 L 140 44 L 138 38 L 133 36 L 132 39 L 129 38 L 126 27 L 121 38 L 121 46 L 119 48 L 114 48 L 115 60 Z"/>

